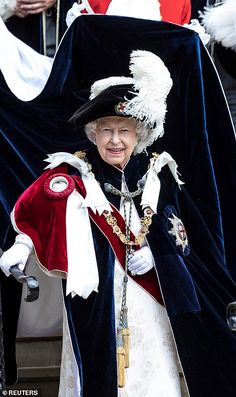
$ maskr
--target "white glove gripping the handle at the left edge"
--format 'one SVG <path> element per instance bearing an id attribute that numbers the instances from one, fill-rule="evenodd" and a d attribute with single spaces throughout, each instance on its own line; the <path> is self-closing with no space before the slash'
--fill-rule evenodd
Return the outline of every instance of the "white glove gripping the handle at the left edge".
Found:
<path id="1" fill-rule="evenodd" d="M 11 266 L 19 265 L 24 270 L 32 248 L 33 242 L 26 234 L 16 236 L 15 243 L 0 258 L 0 268 L 7 277 L 11 274 Z"/>

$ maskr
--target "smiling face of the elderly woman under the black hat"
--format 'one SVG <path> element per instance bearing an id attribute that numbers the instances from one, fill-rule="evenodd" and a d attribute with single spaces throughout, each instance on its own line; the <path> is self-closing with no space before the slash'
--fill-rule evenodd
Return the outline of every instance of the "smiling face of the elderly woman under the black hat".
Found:
<path id="1" fill-rule="evenodd" d="M 137 144 L 136 121 L 119 116 L 98 119 L 95 141 L 106 163 L 123 168 Z"/>

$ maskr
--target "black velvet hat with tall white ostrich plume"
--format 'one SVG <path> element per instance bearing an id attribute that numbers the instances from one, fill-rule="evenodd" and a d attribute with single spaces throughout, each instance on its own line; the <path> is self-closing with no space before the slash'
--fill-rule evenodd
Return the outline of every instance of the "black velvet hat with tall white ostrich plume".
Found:
<path id="1" fill-rule="evenodd" d="M 166 98 L 172 79 L 164 62 L 149 51 L 136 50 L 130 55 L 132 77 L 111 76 L 95 81 L 90 100 L 69 120 L 76 128 L 108 116 L 137 119 L 148 130 L 142 151 L 164 133 Z"/>

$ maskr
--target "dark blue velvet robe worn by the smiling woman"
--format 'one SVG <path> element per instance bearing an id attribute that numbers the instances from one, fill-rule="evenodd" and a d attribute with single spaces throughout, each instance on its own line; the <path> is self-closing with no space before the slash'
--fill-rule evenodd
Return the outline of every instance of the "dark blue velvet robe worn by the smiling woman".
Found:
<path id="1" fill-rule="evenodd" d="M 92 151 L 92 170 L 104 183 L 121 189 L 122 173 Z M 124 169 L 129 191 L 148 167 L 148 158 L 137 155 Z M 187 186 L 179 189 L 168 167 L 159 174 L 161 192 L 147 240 L 155 258 L 161 291 L 173 329 L 178 354 L 191 397 L 235 395 L 236 334 L 225 321 L 226 306 L 235 299 L 236 286 L 225 268 L 224 256 L 209 232 L 205 219 L 192 202 Z M 184 175 L 182 176 L 184 179 Z M 119 196 L 106 193 L 119 208 Z M 140 196 L 134 199 L 143 215 Z M 172 215 L 186 228 L 188 246 L 182 250 L 169 232 Z M 116 397 L 116 339 L 114 318 L 114 254 L 103 234 L 92 224 L 99 269 L 99 293 L 84 300 L 65 298 L 73 347 L 80 367 L 82 396 Z M 127 370 L 128 371 L 128 370 Z"/>

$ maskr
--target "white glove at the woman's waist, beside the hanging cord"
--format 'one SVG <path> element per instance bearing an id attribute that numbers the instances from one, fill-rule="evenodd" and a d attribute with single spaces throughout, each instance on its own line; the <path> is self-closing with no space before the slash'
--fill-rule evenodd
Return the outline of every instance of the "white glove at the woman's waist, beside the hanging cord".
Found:
<path id="1" fill-rule="evenodd" d="M 135 251 L 134 255 L 129 259 L 128 269 L 132 276 L 142 275 L 151 270 L 154 266 L 154 259 L 149 247 L 145 246 Z"/>

